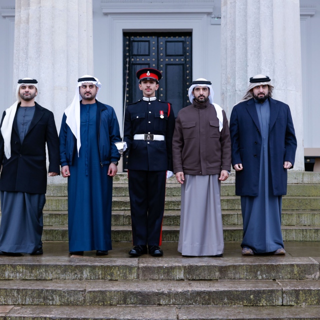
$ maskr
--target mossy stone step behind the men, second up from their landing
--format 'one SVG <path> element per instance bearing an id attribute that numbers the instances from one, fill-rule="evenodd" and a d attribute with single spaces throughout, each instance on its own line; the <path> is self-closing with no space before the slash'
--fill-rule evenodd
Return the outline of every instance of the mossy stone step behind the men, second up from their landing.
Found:
<path id="1" fill-rule="evenodd" d="M 0 214 L 1 216 L 1 214 Z M 112 225 L 130 225 L 129 210 L 113 210 Z M 44 225 L 67 224 L 67 211 L 43 211 Z M 242 224 L 241 211 L 222 210 L 223 225 Z M 281 214 L 282 225 L 320 225 L 320 211 L 315 210 L 283 210 Z M 179 225 L 180 210 L 165 210 L 163 225 Z"/>

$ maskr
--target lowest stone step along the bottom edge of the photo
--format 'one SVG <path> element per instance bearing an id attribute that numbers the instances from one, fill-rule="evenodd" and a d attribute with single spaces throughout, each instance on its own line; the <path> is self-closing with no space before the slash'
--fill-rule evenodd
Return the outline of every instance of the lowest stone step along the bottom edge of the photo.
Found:
<path id="1" fill-rule="evenodd" d="M 243 320 L 319 319 L 320 306 L 2 305 L 10 320 Z M 2 318 L 1 318 L 2 319 Z"/>

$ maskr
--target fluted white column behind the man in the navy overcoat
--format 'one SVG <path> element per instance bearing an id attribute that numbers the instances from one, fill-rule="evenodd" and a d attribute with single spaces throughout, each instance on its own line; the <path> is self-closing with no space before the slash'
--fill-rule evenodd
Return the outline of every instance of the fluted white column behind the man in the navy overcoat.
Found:
<path id="1" fill-rule="evenodd" d="M 221 1 L 221 104 L 228 117 L 255 74 L 268 75 L 273 98 L 290 106 L 294 169 L 304 170 L 299 0 Z"/>

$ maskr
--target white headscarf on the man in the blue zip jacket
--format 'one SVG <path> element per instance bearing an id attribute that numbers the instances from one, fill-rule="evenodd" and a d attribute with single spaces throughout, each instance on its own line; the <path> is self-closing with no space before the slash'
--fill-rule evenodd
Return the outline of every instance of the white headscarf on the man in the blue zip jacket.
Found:
<path id="1" fill-rule="evenodd" d="M 69 126 L 69 128 L 71 129 L 73 135 L 76 138 L 76 148 L 78 151 L 78 156 L 79 156 L 79 150 L 80 150 L 80 146 L 81 146 L 81 140 L 80 140 L 80 100 L 81 95 L 79 93 L 79 87 L 82 85 L 82 83 L 93 83 L 98 87 L 98 92 L 101 89 L 101 83 L 100 81 L 91 76 L 91 75 L 82 75 L 79 80 L 81 78 L 94 78 L 95 81 L 91 81 L 91 80 L 84 80 L 84 81 L 79 81 L 78 85 L 75 88 L 75 95 L 74 98 L 71 102 L 71 104 L 64 110 L 64 113 L 66 115 L 66 124 Z"/>

